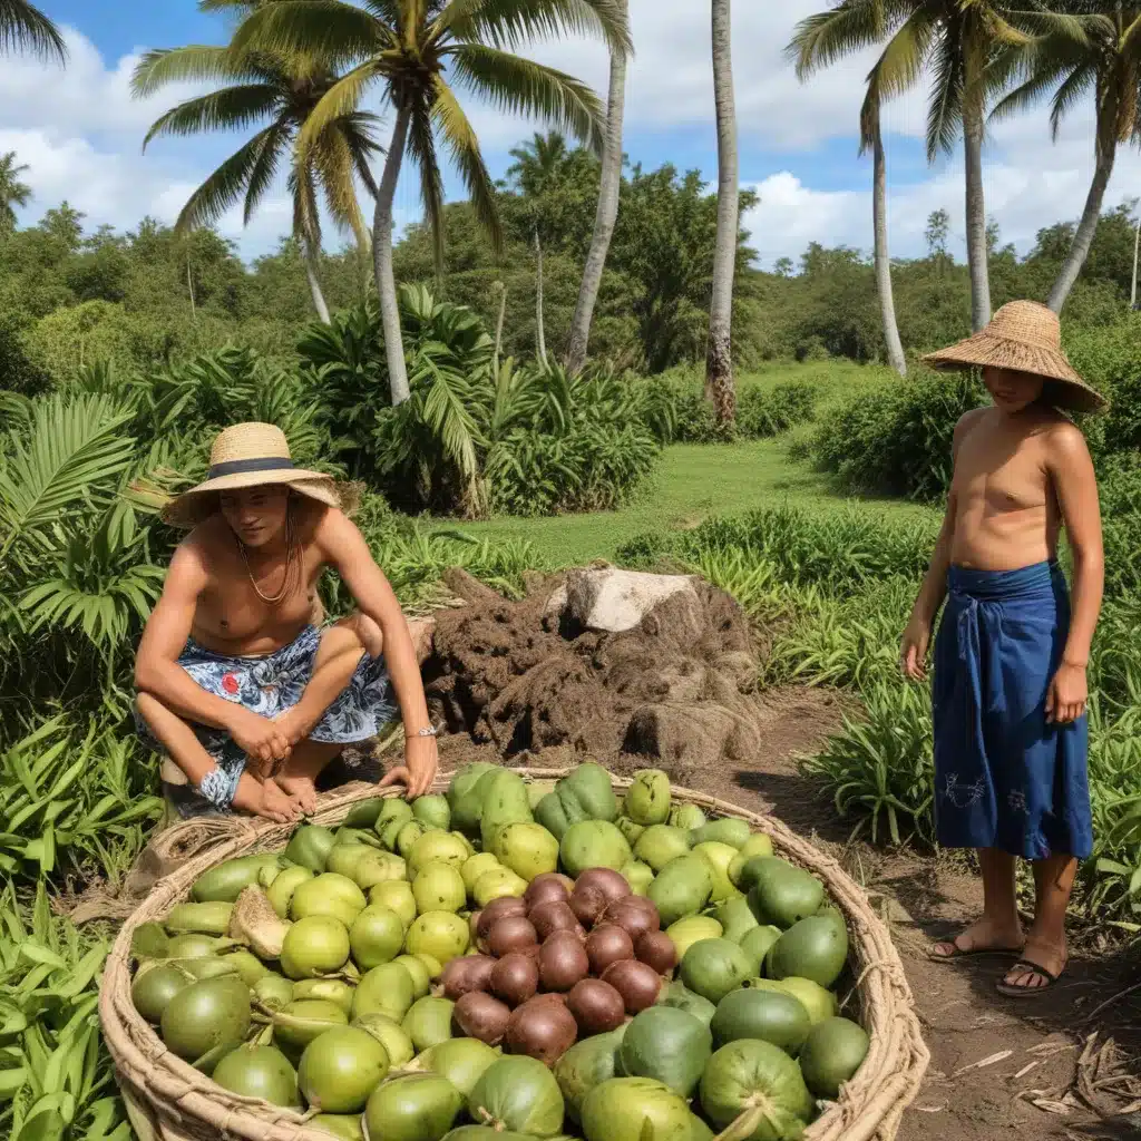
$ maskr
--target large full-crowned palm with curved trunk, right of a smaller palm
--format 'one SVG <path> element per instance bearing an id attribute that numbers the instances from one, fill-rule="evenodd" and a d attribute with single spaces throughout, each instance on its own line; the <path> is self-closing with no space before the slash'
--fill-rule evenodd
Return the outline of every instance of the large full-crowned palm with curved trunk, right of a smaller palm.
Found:
<path id="1" fill-rule="evenodd" d="M 598 96 L 580 80 L 515 55 L 524 41 L 566 32 L 601 35 L 626 51 L 630 33 L 621 0 L 275 0 L 237 30 L 237 50 L 257 48 L 290 58 L 322 51 L 354 59 L 317 104 L 298 138 L 306 155 L 331 122 L 355 112 L 366 91 L 382 83 L 395 112 L 373 217 L 373 259 L 393 403 L 408 397 L 407 369 L 393 274 L 393 200 L 405 151 L 419 170 L 424 213 L 443 266 L 444 186 L 437 138 L 471 196 L 476 216 L 496 250 L 502 229 L 495 187 L 479 140 L 455 86 L 483 96 L 508 114 L 547 120 L 597 144 Z"/>

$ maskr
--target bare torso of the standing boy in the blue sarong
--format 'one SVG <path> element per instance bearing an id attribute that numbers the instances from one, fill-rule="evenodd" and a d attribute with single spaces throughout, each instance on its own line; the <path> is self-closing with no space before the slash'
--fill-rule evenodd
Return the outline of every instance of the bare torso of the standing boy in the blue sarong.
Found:
<path id="1" fill-rule="evenodd" d="M 952 480 L 950 561 L 981 570 L 1017 570 L 1055 557 L 1061 509 L 1049 469 L 1052 434 L 1069 421 L 1050 410 L 1017 416 L 968 413 L 957 431 Z"/>

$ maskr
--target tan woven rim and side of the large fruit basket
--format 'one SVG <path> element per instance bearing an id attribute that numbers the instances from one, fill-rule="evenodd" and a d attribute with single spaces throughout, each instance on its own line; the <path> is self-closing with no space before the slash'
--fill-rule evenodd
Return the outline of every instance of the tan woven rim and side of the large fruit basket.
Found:
<path id="1" fill-rule="evenodd" d="M 535 780 L 553 780 L 569 770 L 519 769 Z M 440 777 L 434 791 L 442 792 Z M 630 782 L 614 778 L 618 790 Z M 359 800 L 377 795 L 373 785 L 354 784 L 321 799 L 314 822 L 338 824 Z M 391 795 L 398 795 L 391 792 Z M 887 928 L 868 906 L 864 892 L 840 865 L 770 816 L 747 812 L 703 793 L 674 788 L 674 798 L 721 816 L 747 820 L 772 839 L 777 852 L 808 868 L 827 885 L 848 920 L 856 973 L 859 1018 L 872 1038 L 856 1076 L 806 1132 L 806 1141 L 892 1141 L 904 1109 L 915 1097 L 929 1054 L 920 1034 L 904 968 Z M 178 825 L 163 839 L 189 858 L 162 879 L 128 919 L 107 958 L 99 995 L 99 1017 L 114 1059 L 120 1089 L 136 1132 L 149 1141 L 329 1141 L 329 1134 L 305 1124 L 301 1114 L 242 1098 L 217 1086 L 172 1054 L 131 1002 L 131 934 L 140 924 L 163 919 L 186 898 L 191 884 L 207 868 L 248 852 L 282 849 L 290 827 L 269 822 L 233 819 L 227 830 L 202 830 L 194 851 L 196 822 Z M 185 833 L 185 835 L 180 835 Z"/>

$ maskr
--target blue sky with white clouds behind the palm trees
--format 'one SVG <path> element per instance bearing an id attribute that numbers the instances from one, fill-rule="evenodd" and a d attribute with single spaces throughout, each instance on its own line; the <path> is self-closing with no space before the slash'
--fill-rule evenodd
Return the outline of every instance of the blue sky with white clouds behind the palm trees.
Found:
<path id="1" fill-rule="evenodd" d="M 782 55 L 798 19 L 825 0 L 738 0 L 734 11 L 734 67 L 741 178 L 760 204 L 746 219 L 760 264 L 796 258 L 809 241 L 871 245 L 867 160 L 857 157 L 855 124 L 869 56 L 845 62 L 808 84 L 798 82 Z M 6 60 L 0 70 L 0 152 L 14 149 L 31 169 L 35 194 L 27 217 L 67 197 L 89 225 L 129 227 L 146 213 L 172 220 L 193 187 L 237 144 L 230 139 L 162 140 L 140 153 L 147 126 L 176 102 L 163 92 L 144 105 L 130 99 L 129 78 L 139 51 L 187 42 L 222 42 L 225 24 L 193 0 L 41 0 L 67 29 L 70 66 L 59 72 L 34 60 Z M 646 167 L 673 162 L 717 169 L 709 8 L 694 0 L 631 0 L 636 58 L 626 90 L 625 149 Z M 597 43 L 536 46 L 529 54 L 606 89 L 607 60 Z M 189 94 L 189 92 L 184 92 Z M 487 107 L 470 110 L 492 172 L 535 124 L 509 121 Z M 922 252 L 931 210 L 952 215 L 953 246 L 962 240 L 962 165 L 956 155 L 928 167 L 922 147 L 924 95 L 889 110 L 891 245 L 897 256 Z M 1035 232 L 1076 217 L 1092 160 L 1089 108 L 1051 145 L 1044 112 L 997 128 L 988 143 L 988 210 L 1003 237 L 1027 250 Z M 451 175 L 451 196 L 460 193 Z M 1108 201 L 1141 195 L 1141 161 L 1123 155 Z M 418 215 L 410 179 L 397 192 L 398 217 Z M 283 188 L 249 229 L 227 218 L 224 232 L 244 256 L 273 249 L 289 228 Z"/>

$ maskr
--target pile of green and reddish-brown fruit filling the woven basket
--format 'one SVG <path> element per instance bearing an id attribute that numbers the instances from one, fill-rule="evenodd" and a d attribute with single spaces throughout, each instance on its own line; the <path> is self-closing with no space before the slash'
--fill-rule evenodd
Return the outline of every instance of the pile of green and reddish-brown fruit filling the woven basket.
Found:
<path id="1" fill-rule="evenodd" d="M 859 1068 L 848 932 L 742 820 L 471 764 L 228 860 L 138 926 L 131 996 L 236 1094 L 369 1141 L 796 1138 Z"/>

